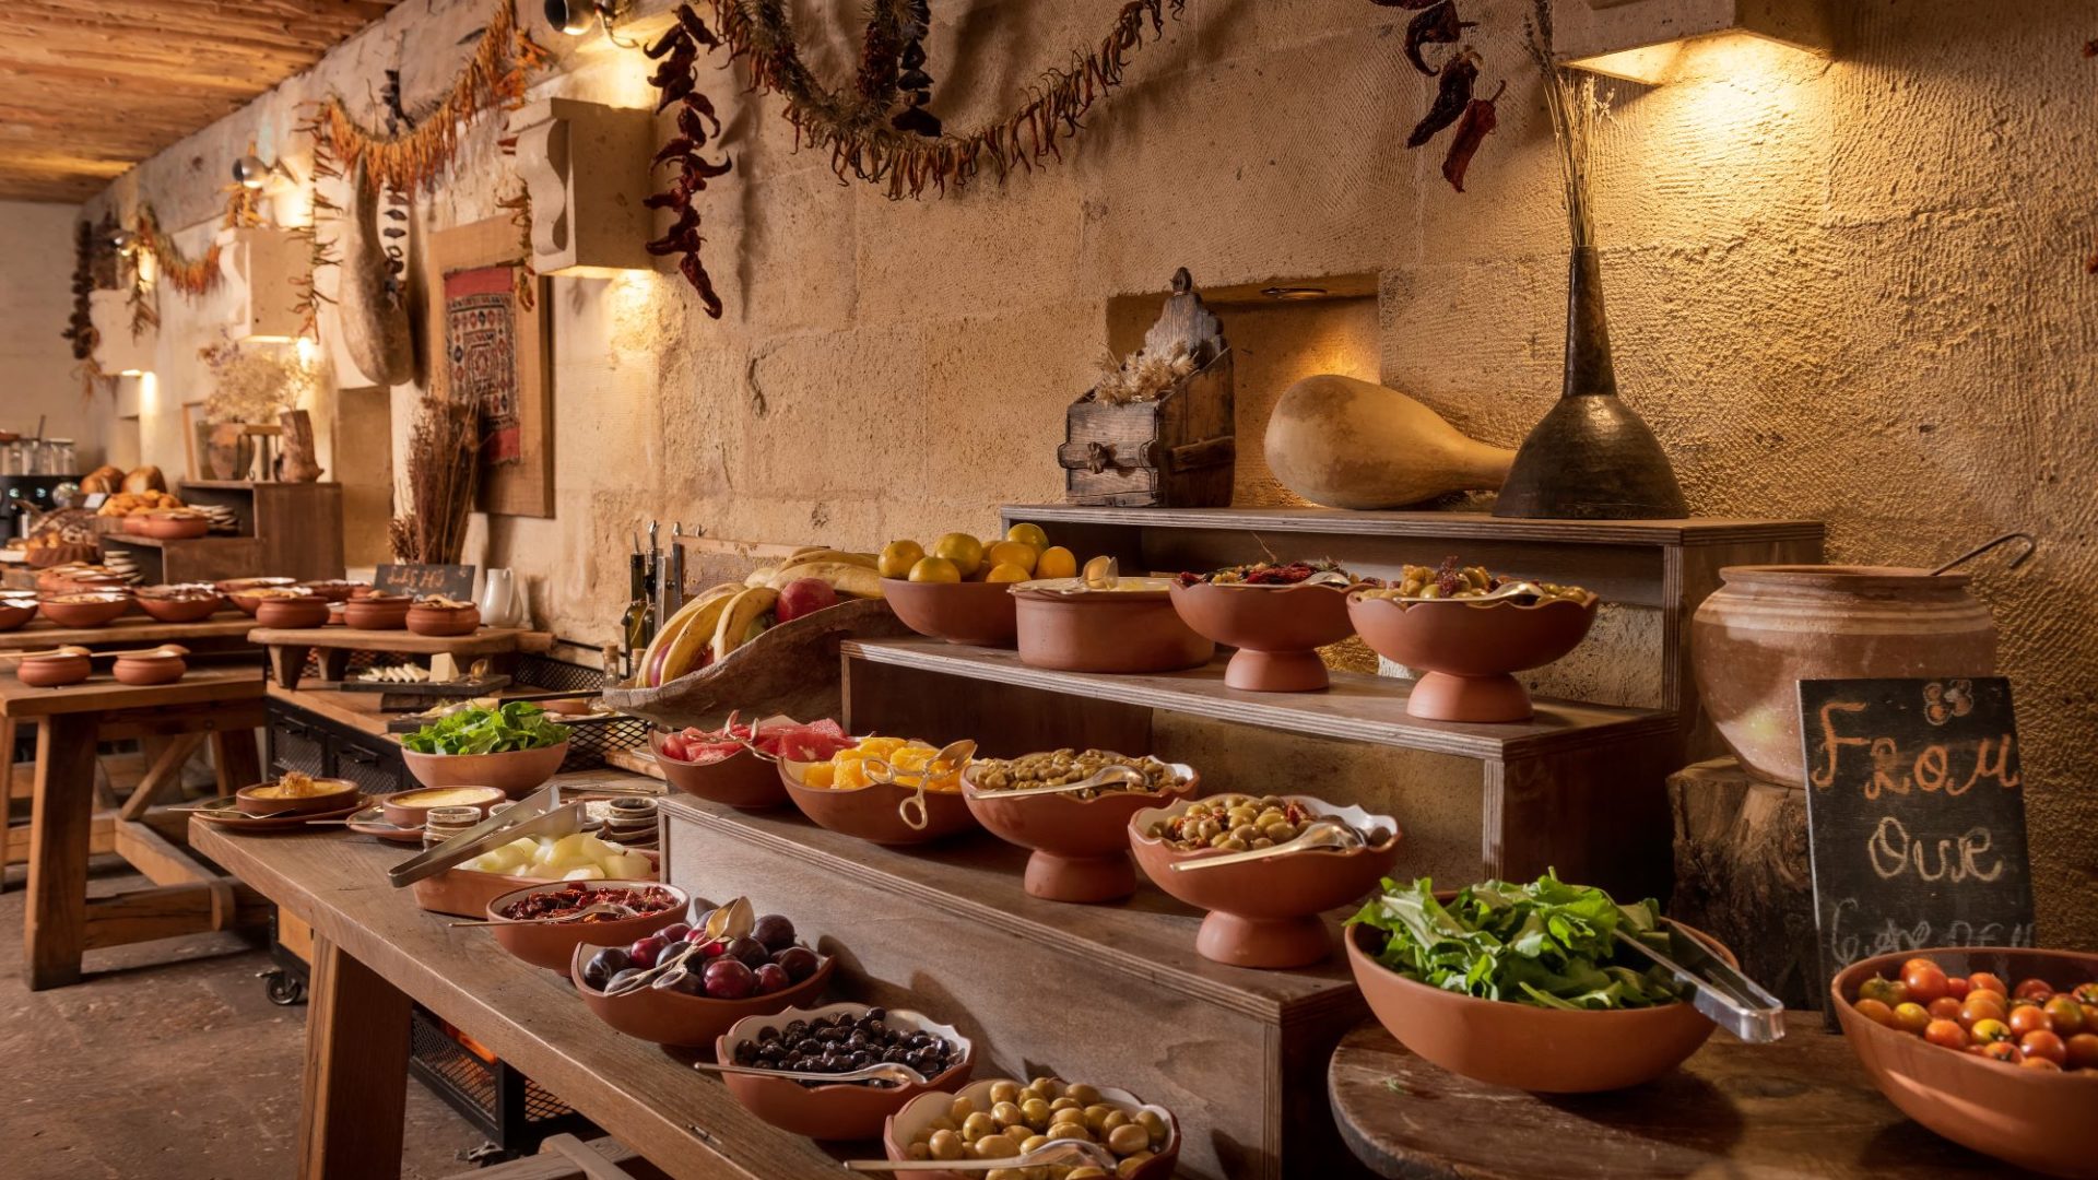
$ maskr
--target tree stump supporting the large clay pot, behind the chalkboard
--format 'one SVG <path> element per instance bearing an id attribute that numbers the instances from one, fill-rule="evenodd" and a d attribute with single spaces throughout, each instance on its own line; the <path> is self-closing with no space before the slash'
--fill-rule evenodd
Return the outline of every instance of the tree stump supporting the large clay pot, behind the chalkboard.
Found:
<path id="1" fill-rule="evenodd" d="M 1676 892 L 1668 913 L 1725 943 L 1785 1008 L 1821 1008 L 1806 789 L 1756 779 L 1733 758 L 1668 777 Z"/>

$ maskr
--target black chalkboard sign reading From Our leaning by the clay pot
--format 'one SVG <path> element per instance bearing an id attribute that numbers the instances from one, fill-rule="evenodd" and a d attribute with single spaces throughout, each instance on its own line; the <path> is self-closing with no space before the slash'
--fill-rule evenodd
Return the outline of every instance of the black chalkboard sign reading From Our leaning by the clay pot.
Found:
<path id="1" fill-rule="evenodd" d="M 2010 680 L 1800 680 L 1823 978 L 1922 947 L 2031 947 Z"/>

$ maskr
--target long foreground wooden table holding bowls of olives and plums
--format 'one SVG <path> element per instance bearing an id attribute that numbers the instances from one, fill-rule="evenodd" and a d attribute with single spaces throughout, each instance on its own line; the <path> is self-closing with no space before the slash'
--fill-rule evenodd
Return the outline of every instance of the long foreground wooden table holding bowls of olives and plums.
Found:
<path id="1" fill-rule="evenodd" d="M 554 972 L 527 966 L 480 928 L 424 913 L 386 869 L 411 850 L 346 834 L 229 834 L 191 842 L 313 926 L 298 1176 L 401 1174 L 409 1002 L 487 1046 L 671 1176 L 839 1176 L 812 1140 L 747 1113 L 690 1054 L 615 1033 Z M 875 1144 L 854 1144 L 879 1155 Z M 848 1153 L 850 1155 L 850 1153 Z"/>

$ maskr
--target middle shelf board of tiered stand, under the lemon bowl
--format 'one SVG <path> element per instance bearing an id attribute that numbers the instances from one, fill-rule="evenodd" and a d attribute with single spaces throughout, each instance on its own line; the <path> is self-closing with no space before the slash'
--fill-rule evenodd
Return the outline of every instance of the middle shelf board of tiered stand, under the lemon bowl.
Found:
<path id="1" fill-rule="evenodd" d="M 1246 693 L 1223 684 L 1223 659 L 1194 672 L 1108 676 L 1030 668 L 1020 661 L 1015 651 L 963 647 L 932 638 L 845 640 L 841 651 L 848 659 L 869 659 L 942 676 L 992 680 L 1286 733 L 1502 762 L 1542 758 L 1634 735 L 1662 737 L 1674 731 L 1674 718 L 1662 710 L 1618 710 L 1569 701 L 1538 701 L 1538 716 L 1527 722 L 1420 720 L 1406 714 L 1406 697 L 1412 693 L 1408 680 L 1353 672 L 1334 672 L 1332 689 L 1324 693 Z"/>

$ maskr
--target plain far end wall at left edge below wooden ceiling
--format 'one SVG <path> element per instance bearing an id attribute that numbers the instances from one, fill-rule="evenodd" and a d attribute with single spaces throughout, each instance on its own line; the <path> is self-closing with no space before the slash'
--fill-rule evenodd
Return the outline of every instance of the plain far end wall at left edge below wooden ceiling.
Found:
<path id="1" fill-rule="evenodd" d="M 107 395 L 90 403 L 73 376 L 73 346 L 59 338 L 73 313 L 73 223 L 80 210 L 0 202 L 0 430 L 71 439 L 80 470 L 103 462 Z"/>

